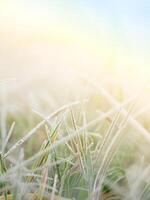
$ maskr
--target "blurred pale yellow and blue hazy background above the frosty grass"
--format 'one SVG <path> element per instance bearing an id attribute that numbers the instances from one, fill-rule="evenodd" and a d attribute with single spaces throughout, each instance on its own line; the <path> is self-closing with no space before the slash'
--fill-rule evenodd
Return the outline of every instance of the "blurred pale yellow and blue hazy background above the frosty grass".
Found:
<path id="1" fill-rule="evenodd" d="M 96 96 L 87 80 L 118 100 L 145 90 L 149 9 L 148 0 L 1 0 L 1 88 L 21 98 L 18 104 L 11 96 L 10 106 L 23 107 L 29 99 L 31 107 L 42 100 L 55 108 Z"/>

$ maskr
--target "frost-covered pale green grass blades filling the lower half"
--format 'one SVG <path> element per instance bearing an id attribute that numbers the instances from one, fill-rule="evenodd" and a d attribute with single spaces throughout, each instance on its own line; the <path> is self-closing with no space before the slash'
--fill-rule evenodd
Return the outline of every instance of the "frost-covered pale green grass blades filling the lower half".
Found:
<path id="1" fill-rule="evenodd" d="M 52 107 L 50 115 L 49 100 L 40 100 L 39 110 L 28 101 L 12 109 L 14 94 L 1 87 L 0 200 L 150 199 L 145 91 L 118 101 L 97 82 L 85 82 L 91 93 Z"/>

